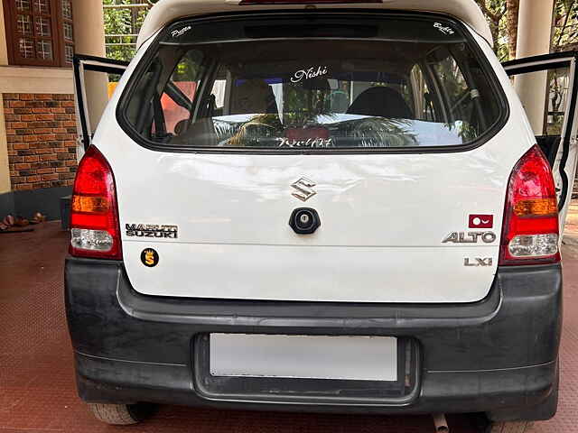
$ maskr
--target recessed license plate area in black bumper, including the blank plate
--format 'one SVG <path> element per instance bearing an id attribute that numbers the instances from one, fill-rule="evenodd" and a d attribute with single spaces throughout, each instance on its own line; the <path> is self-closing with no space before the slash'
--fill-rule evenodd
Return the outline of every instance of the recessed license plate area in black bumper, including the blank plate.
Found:
<path id="1" fill-rule="evenodd" d="M 419 345 L 394 336 L 204 334 L 194 386 L 223 401 L 404 405 L 419 388 Z"/>

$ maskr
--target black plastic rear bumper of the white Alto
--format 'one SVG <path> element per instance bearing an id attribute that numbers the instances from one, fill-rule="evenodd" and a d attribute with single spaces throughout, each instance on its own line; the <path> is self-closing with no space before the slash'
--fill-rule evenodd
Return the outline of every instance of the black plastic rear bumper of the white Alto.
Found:
<path id="1" fill-rule="evenodd" d="M 138 294 L 122 263 L 69 259 L 66 304 L 79 395 L 259 410 L 527 412 L 553 390 L 562 322 L 560 266 L 501 269 L 467 305 L 171 299 Z M 200 374 L 210 333 L 397 336 L 416 342 L 415 387 L 399 399 L 335 393 L 219 393 Z M 537 413 L 537 412 L 536 412 Z M 536 415 L 540 418 L 540 415 Z"/>

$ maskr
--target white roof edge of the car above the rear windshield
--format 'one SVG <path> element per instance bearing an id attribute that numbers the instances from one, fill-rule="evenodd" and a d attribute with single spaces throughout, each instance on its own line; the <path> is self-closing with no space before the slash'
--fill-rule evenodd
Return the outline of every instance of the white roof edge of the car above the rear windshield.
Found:
<path id="1" fill-rule="evenodd" d="M 144 20 L 143 27 L 136 41 L 136 48 L 140 48 L 144 41 L 150 39 L 154 33 L 161 30 L 166 24 L 172 23 L 172 21 L 179 18 L 206 14 L 275 11 L 280 9 L 303 10 L 305 7 L 312 5 L 309 1 L 303 2 L 302 5 L 287 5 L 284 3 L 239 5 L 239 3 L 240 0 L 159 0 Z M 490 45 L 493 45 L 489 24 L 474 0 L 382 0 L 380 3 L 319 3 L 315 4 L 315 6 L 318 9 L 389 9 L 446 14 L 457 18 L 463 23 L 467 23 Z"/>

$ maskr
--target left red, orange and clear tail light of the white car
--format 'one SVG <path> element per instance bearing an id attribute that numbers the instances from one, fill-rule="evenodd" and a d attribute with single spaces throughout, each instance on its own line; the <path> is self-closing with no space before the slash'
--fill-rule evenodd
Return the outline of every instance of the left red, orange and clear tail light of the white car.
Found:
<path id="1" fill-rule="evenodd" d="M 105 157 L 90 146 L 79 163 L 70 210 L 70 254 L 120 259 L 117 189 Z"/>

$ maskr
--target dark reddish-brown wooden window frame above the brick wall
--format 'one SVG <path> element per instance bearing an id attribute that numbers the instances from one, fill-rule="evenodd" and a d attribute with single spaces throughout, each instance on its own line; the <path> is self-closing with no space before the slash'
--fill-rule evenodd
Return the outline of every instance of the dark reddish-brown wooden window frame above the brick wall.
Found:
<path id="1" fill-rule="evenodd" d="M 8 62 L 10 65 L 14 66 L 40 66 L 49 68 L 70 68 L 72 64 L 66 61 L 65 46 L 70 45 L 74 47 L 74 41 L 69 41 L 64 39 L 64 23 L 72 23 L 72 20 L 64 18 L 62 15 L 62 0 L 48 0 L 51 7 L 51 14 L 35 14 L 33 12 L 33 2 L 30 0 L 32 12 L 30 16 L 33 17 L 33 35 L 26 36 L 27 39 L 34 41 L 34 53 L 38 49 L 38 41 L 48 41 L 52 43 L 52 60 L 43 60 L 37 57 L 33 59 L 25 59 L 20 56 L 20 51 L 18 49 L 18 40 L 21 35 L 17 33 L 16 19 L 18 16 L 18 11 L 15 7 L 15 0 L 2 0 L 4 6 L 4 16 L 5 16 L 5 30 L 6 30 L 6 44 L 8 46 Z M 74 14 L 74 10 L 72 11 Z M 35 18 L 42 16 L 44 18 L 50 18 L 51 20 L 51 37 L 39 37 L 36 36 L 36 23 Z M 74 29 L 74 27 L 73 27 Z"/>

